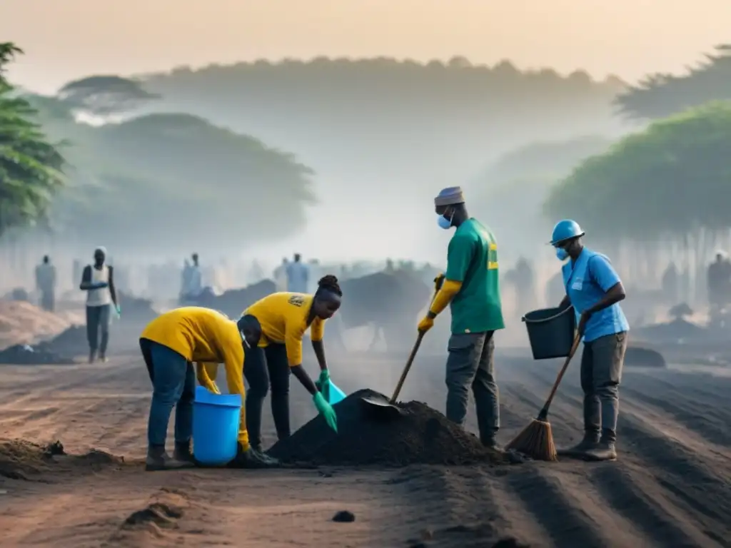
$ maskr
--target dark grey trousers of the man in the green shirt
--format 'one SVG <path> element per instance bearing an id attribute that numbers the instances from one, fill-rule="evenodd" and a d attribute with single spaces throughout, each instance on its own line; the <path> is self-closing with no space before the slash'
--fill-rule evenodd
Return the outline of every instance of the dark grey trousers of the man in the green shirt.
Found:
<path id="1" fill-rule="evenodd" d="M 500 393 L 495 383 L 493 331 L 450 337 L 447 350 L 447 419 L 464 425 L 472 389 L 480 441 L 487 444 L 500 427 Z"/>

